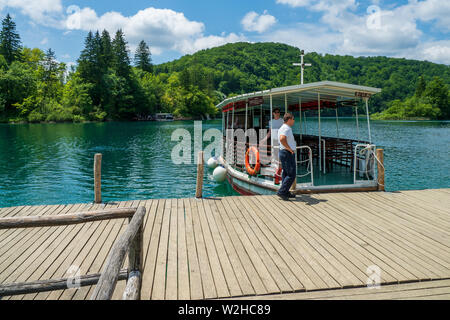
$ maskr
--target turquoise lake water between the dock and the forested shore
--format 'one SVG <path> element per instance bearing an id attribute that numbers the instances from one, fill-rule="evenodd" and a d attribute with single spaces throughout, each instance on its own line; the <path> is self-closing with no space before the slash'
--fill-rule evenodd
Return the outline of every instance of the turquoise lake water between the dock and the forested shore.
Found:
<path id="1" fill-rule="evenodd" d="M 193 122 L 0 125 L 0 207 L 88 203 L 94 198 L 93 158 L 103 154 L 104 201 L 195 195 L 196 166 L 171 161 L 172 132 Z M 221 129 L 221 121 L 203 129 Z M 336 135 L 334 119 L 323 134 Z M 355 119 L 341 119 L 340 135 L 357 138 Z M 299 131 L 299 127 L 296 128 Z M 316 134 L 318 124 L 308 120 Z M 373 141 L 385 149 L 388 191 L 450 187 L 450 122 L 373 121 Z M 360 138 L 368 139 L 360 121 Z M 208 172 L 205 196 L 235 195 Z"/>

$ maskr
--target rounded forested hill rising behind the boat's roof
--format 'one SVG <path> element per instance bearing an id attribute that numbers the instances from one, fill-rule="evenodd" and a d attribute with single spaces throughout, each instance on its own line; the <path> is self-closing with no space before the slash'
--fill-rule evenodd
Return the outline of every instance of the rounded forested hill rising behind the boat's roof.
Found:
<path id="1" fill-rule="evenodd" d="M 299 49 L 289 45 L 234 43 L 155 66 L 155 72 L 171 74 L 201 65 L 212 74 L 215 89 L 228 96 L 298 84 L 300 69 L 292 63 L 299 60 Z M 450 84 L 450 66 L 426 61 L 308 53 L 305 62 L 313 64 L 305 71 L 305 82 L 329 80 L 382 88 L 382 94 L 372 99 L 372 112 L 413 96 L 420 76 L 425 81 L 439 76 Z"/>

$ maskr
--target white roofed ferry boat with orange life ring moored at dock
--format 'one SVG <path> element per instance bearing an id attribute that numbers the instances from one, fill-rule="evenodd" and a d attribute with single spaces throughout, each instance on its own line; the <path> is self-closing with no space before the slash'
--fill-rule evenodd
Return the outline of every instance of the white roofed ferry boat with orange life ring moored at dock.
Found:
<path id="1" fill-rule="evenodd" d="M 243 195 L 274 194 L 281 187 L 279 142 L 273 129 L 274 122 L 271 121 L 274 108 L 279 107 L 282 113 L 290 112 L 296 119 L 293 132 L 298 146 L 298 176 L 292 192 L 378 190 L 375 169 L 378 158 L 376 145 L 372 141 L 368 101 L 380 92 L 381 89 L 377 88 L 323 81 L 224 100 L 217 106 L 223 114 L 224 138 L 219 160 L 227 170 L 228 181 Z M 366 140 L 345 138 L 339 133 L 338 111 L 353 108 L 356 112 L 355 133 L 359 135 L 358 105 L 364 106 L 366 111 Z M 336 111 L 337 134 L 334 137 L 322 134 L 322 113 L 325 109 Z M 306 117 L 310 119 L 312 115 L 318 121 L 317 133 L 308 128 Z M 271 133 L 272 138 L 265 139 L 264 134 L 261 135 L 264 129 Z M 243 133 L 244 140 L 239 138 Z"/>

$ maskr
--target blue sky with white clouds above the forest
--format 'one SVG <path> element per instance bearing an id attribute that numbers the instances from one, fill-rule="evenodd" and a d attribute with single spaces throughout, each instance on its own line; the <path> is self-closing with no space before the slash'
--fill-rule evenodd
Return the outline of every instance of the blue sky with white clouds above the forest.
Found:
<path id="1" fill-rule="evenodd" d="M 450 0 L 0 0 L 24 45 L 74 63 L 89 30 L 122 28 L 161 63 L 230 42 L 450 64 Z"/>

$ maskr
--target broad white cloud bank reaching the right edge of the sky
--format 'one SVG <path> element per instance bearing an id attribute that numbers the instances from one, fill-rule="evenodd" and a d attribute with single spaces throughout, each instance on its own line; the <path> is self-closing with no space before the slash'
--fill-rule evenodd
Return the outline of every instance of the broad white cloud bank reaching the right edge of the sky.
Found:
<path id="1" fill-rule="evenodd" d="M 429 39 L 418 26 L 422 21 L 431 23 L 440 32 L 450 30 L 449 1 L 410 0 L 400 6 L 369 7 L 362 14 L 356 13 L 358 3 L 355 0 L 277 0 L 277 3 L 307 7 L 307 10 L 321 13 L 320 32 L 314 31 L 312 26 L 301 31 L 286 26 L 268 35 L 272 41 L 281 37 L 288 43 L 295 41 L 302 48 L 309 46 L 319 52 L 389 55 L 449 63 L 449 41 Z M 310 32 L 314 36 L 310 36 Z M 289 34 L 299 40 L 289 41 Z"/>

